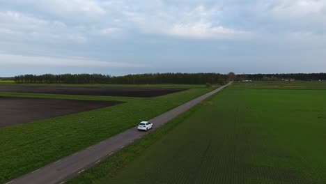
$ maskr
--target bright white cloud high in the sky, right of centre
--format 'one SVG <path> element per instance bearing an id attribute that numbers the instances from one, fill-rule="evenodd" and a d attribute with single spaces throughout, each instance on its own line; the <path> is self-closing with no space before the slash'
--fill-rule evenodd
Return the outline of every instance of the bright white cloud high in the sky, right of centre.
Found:
<path id="1" fill-rule="evenodd" d="M 144 33 L 158 33 L 167 36 L 195 39 L 239 39 L 251 38 L 250 31 L 227 28 L 219 23 L 219 10 L 196 6 L 194 8 L 166 8 L 153 15 L 124 11 Z"/>

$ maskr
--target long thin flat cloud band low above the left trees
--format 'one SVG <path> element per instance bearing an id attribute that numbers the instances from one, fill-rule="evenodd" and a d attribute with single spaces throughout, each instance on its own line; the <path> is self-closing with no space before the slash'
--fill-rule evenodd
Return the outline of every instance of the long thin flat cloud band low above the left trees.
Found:
<path id="1" fill-rule="evenodd" d="M 45 56 L 19 56 L 0 54 L 0 66 L 59 66 L 59 67 L 93 67 L 93 68 L 143 68 L 137 63 L 119 63 L 97 61 L 82 58 L 55 58 Z"/>

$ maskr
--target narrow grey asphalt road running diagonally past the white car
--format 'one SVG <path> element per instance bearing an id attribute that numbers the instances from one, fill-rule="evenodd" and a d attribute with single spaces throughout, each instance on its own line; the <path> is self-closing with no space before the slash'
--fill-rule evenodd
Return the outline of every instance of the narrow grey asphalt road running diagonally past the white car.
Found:
<path id="1" fill-rule="evenodd" d="M 195 98 L 189 102 L 186 102 L 179 107 L 171 109 L 169 112 L 165 112 L 160 116 L 157 116 L 153 119 L 150 119 L 150 122 L 153 123 L 153 130 L 160 127 L 164 123 L 169 122 L 171 119 L 175 118 L 179 114 L 186 112 L 188 109 L 194 107 L 194 105 L 205 100 L 211 95 L 221 91 L 224 87 L 230 85 L 230 83 L 225 86 L 221 86 L 210 93 L 201 95 L 199 98 Z M 89 167 L 97 164 L 101 160 L 104 160 L 108 156 L 114 154 L 114 152 L 119 149 L 127 146 L 127 144 L 132 143 L 134 140 L 141 138 L 143 135 L 146 135 L 147 132 L 139 132 L 137 127 L 130 128 L 125 130 L 114 137 L 110 137 L 104 141 L 101 141 L 98 144 L 90 146 L 82 151 L 79 151 L 73 155 L 70 155 L 66 158 L 53 162 L 46 165 L 36 171 L 33 171 L 29 174 L 26 174 L 20 178 L 16 178 L 13 181 L 10 181 L 10 184 L 50 184 L 50 183 L 64 183 L 70 178 L 80 174 Z"/>

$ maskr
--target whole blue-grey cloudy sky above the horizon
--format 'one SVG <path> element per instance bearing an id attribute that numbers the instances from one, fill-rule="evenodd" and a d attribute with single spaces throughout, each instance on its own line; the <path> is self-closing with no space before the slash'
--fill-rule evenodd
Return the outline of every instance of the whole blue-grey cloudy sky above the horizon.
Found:
<path id="1" fill-rule="evenodd" d="M 1 0 L 0 68 L 326 72 L 326 0 Z"/>

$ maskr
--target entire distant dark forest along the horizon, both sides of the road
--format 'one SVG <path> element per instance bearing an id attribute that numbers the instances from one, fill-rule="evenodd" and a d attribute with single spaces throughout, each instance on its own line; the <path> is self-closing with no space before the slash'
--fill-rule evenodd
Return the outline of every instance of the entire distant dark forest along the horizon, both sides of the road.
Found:
<path id="1" fill-rule="evenodd" d="M 326 80 L 326 73 L 289 74 L 241 74 L 219 73 L 149 73 L 125 76 L 101 74 L 63 74 L 63 75 L 19 75 L 13 78 L 17 83 L 47 84 L 225 84 L 228 80 Z"/>

